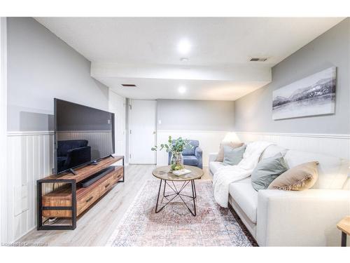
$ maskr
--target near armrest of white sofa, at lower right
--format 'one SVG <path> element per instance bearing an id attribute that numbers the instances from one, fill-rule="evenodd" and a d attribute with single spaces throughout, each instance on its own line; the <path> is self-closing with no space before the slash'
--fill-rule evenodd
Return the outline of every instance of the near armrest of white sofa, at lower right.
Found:
<path id="1" fill-rule="evenodd" d="M 260 190 L 256 241 L 261 246 L 339 246 L 336 225 L 349 214 L 350 191 Z"/>

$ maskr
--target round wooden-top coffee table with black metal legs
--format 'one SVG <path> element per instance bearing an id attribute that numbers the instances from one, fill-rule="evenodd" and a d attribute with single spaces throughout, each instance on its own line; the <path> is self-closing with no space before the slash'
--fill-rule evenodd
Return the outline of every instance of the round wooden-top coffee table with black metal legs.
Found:
<path id="1" fill-rule="evenodd" d="M 197 197 L 196 193 L 196 188 L 195 188 L 195 180 L 200 179 L 204 175 L 204 171 L 200 168 L 197 168 L 195 166 L 185 166 L 185 169 L 188 169 L 191 171 L 191 173 L 188 173 L 186 175 L 174 175 L 173 173 L 170 172 L 170 166 L 160 166 L 158 168 L 155 168 L 153 170 L 152 174 L 153 176 L 157 177 L 160 179 L 160 184 L 159 184 L 159 190 L 158 190 L 158 196 L 157 196 L 157 203 L 155 204 L 155 213 L 159 213 L 167 204 L 169 204 L 171 201 L 176 198 L 176 196 L 179 196 L 181 201 L 186 205 L 188 210 L 190 210 L 190 213 L 192 215 L 196 215 L 196 204 L 195 204 L 195 198 Z M 160 189 L 162 189 L 162 184 L 164 181 L 164 186 L 163 186 L 163 194 L 162 194 L 162 201 L 163 198 L 167 199 L 167 203 L 165 205 L 162 205 L 161 208 L 158 209 L 158 203 L 160 200 Z M 181 186 L 176 187 L 174 182 L 183 182 Z M 186 194 L 181 194 L 183 189 L 185 187 L 191 184 L 191 189 L 192 189 L 192 196 L 188 196 Z M 174 193 L 173 194 L 165 194 L 165 189 L 167 188 L 171 189 Z M 193 201 L 193 210 L 188 206 L 188 202 L 186 203 L 183 198 L 190 198 L 190 201 Z M 162 203 L 161 201 L 161 203 Z"/>

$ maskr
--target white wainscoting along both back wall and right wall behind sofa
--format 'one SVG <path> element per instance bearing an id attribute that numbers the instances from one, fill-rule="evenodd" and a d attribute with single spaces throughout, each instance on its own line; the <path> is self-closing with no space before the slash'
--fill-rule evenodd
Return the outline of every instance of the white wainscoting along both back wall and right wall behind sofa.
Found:
<path id="1" fill-rule="evenodd" d="M 157 144 L 167 142 L 167 137 L 183 137 L 199 140 L 203 150 L 203 166 L 208 166 L 209 153 L 217 152 L 219 144 L 230 131 L 220 130 L 158 130 Z M 350 159 L 349 134 L 318 134 L 318 133 L 258 133 L 235 132 L 241 142 L 266 140 L 274 142 L 287 149 L 308 151 L 317 154 L 329 154 L 342 159 Z M 167 165 L 168 157 L 165 151 L 157 152 L 157 165 Z"/>

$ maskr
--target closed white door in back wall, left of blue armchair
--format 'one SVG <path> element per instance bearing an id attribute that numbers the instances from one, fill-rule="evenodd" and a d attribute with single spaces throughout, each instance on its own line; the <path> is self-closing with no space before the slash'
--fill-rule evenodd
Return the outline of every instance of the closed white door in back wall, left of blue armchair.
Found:
<path id="1" fill-rule="evenodd" d="M 155 100 L 131 100 L 130 161 L 134 164 L 155 164 Z"/>

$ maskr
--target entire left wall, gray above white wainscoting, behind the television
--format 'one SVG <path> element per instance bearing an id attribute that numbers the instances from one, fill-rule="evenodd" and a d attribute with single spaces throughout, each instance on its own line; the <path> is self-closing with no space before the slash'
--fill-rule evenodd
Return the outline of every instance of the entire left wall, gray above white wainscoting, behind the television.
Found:
<path id="1" fill-rule="evenodd" d="M 8 18 L 7 29 L 6 241 L 12 242 L 36 227 L 36 180 L 54 166 L 53 98 L 114 112 L 116 154 L 125 147 L 125 99 L 92 79 L 90 61 L 34 19 Z"/>

